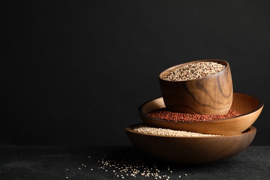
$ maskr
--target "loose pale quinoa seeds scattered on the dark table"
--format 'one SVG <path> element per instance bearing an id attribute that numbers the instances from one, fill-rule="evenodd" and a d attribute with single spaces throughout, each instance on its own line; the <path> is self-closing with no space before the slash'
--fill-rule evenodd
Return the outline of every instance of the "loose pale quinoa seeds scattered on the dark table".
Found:
<path id="1" fill-rule="evenodd" d="M 80 163 L 79 167 L 66 168 L 66 179 L 75 179 L 74 175 L 80 173 L 91 173 L 99 174 L 100 172 L 106 173 L 106 177 L 111 177 L 112 179 L 179 179 L 183 177 L 181 174 L 186 172 L 181 172 L 179 166 L 170 167 L 163 163 L 159 164 L 154 161 L 147 162 L 143 159 L 134 158 L 136 154 L 114 154 L 114 159 L 110 157 L 103 156 L 101 159 L 93 160 L 95 158 L 90 158 L 88 156 L 88 161 Z M 97 161 L 93 163 L 93 161 Z M 174 172 L 175 174 L 172 174 Z M 187 176 L 187 174 L 185 174 Z M 115 178 L 114 178 L 115 177 Z"/>

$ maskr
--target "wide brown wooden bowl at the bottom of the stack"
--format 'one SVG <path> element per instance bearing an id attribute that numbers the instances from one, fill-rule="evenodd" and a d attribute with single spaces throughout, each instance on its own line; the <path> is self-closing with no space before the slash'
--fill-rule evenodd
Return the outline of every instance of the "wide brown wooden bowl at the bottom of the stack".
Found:
<path id="1" fill-rule="evenodd" d="M 132 129 L 136 126 L 125 128 L 135 147 L 156 159 L 185 164 L 213 163 L 235 156 L 251 144 L 256 133 L 251 126 L 233 136 L 156 136 L 136 132 Z"/>

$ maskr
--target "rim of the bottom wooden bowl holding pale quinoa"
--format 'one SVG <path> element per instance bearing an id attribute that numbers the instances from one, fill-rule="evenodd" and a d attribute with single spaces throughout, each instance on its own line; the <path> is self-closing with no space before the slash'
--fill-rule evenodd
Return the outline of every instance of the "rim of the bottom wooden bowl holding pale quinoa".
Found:
<path id="1" fill-rule="evenodd" d="M 131 132 L 133 134 L 141 134 L 143 136 L 154 136 L 154 137 L 160 137 L 160 138 L 192 138 L 192 139 L 195 139 L 195 138 L 230 138 L 230 137 L 235 137 L 235 136 L 245 136 L 247 134 L 252 134 L 252 133 L 257 132 L 256 127 L 251 125 L 249 128 L 244 130 L 244 132 L 242 132 L 241 134 L 220 135 L 220 136 L 164 136 L 164 135 L 146 134 L 146 133 L 134 131 L 133 128 L 137 127 L 139 125 L 145 125 L 145 123 L 136 123 L 136 124 L 133 124 L 133 125 L 129 125 L 129 126 L 125 127 L 125 130 L 126 130 L 126 132 Z M 161 127 L 156 127 L 156 128 L 161 128 Z M 168 129 L 168 128 L 162 128 L 162 129 Z M 172 129 L 172 130 L 174 130 L 174 129 Z M 174 131 L 181 131 L 181 130 L 174 130 Z M 187 132 L 187 131 L 182 131 L 182 132 Z M 199 133 L 199 134 L 204 134 L 204 133 Z"/>

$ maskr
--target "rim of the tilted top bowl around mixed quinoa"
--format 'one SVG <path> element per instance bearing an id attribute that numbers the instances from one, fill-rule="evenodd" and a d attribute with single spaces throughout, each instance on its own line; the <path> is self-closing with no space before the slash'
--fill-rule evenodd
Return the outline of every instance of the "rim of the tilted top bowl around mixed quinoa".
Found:
<path id="1" fill-rule="evenodd" d="M 175 83 L 175 82 L 188 82 L 188 81 L 194 81 L 194 80 L 201 80 L 201 79 L 204 79 L 204 78 L 208 78 L 209 76 L 219 75 L 219 73 L 222 73 L 222 71 L 219 71 L 218 73 L 215 73 L 213 75 L 204 76 L 204 77 L 194 79 L 194 80 L 171 81 L 171 80 L 163 80 L 163 78 L 161 78 L 161 74 L 164 73 L 165 71 L 168 71 L 169 69 L 174 69 L 175 70 L 175 69 L 178 69 L 177 66 L 182 66 L 182 65 L 186 66 L 188 64 L 192 64 L 192 63 L 196 63 L 196 62 L 225 62 L 226 65 L 225 65 L 225 68 L 222 71 L 225 71 L 226 69 L 230 68 L 230 64 L 228 64 L 228 62 L 226 60 L 219 60 L 219 59 L 208 59 L 208 60 L 206 59 L 206 60 L 195 60 L 195 61 L 192 61 L 192 62 L 183 62 L 181 64 L 170 66 L 167 69 L 164 69 L 163 71 L 161 71 L 161 73 L 159 73 L 159 80 L 162 80 L 162 81 L 165 81 L 165 82 L 172 82 L 172 83 Z M 222 64 L 222 65 L 224 65 L 224 64 Z M 172 71 L 174 71 L 174 70 L 172 70 Z"/>

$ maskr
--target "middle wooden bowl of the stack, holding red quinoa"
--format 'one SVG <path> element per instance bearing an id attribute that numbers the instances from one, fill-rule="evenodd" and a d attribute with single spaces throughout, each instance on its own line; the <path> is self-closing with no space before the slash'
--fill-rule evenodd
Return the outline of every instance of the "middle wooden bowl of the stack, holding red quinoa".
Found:
<path id="1" fill-rule="evenodd" d="M 146 114 L 152 110 L 165 107 L 163 98 L 156 98 L 143 103 L 138 107 L 138 114 L 146 125 L 161 127 L 188 132 L 199 132 L 203 134 L 232 135 L 241 134 L 248 129 L 260 116 L 264 102 L 244 93 L 233 93 L 232 109 L 235 109 L 240 116 L 222 120 L 210 120 L 201 122 L 174 122 L 152 118 Z"/>

